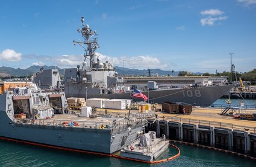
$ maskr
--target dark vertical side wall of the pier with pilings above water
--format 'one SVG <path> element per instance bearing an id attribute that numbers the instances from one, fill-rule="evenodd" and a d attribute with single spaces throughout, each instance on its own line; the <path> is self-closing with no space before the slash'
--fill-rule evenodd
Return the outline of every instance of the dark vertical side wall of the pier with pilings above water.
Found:
<path id="1" fill-rule="evenodd" d="M 249 131 L 159 119 L 150 124 L 146 132 L 148 130 L 155 130 L 159 137 L 165 134 L 170 140 L 201 144 L 256 157 L 256 133 Z"/>

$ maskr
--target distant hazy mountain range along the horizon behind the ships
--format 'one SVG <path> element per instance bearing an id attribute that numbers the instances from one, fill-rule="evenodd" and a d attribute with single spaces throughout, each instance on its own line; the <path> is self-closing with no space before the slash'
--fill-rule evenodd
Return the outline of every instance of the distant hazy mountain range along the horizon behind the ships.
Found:
<path id="1" fill-rule="evenodd" d="M 10 68 L 10 67 L 0 67 L 0 76 L 30 76 L 33 73 L 39 72 L 40 68 L 42 66 L 30 66 L 27 69 L 20 69 L 20 68 Z M 59 74 L 61 76 L 64 76 L 65 69 L 58 68 L 57 66 L 43 66 L 44 69 L 58 69 Z M 125 75 L 139 75 L 139 76 L 148 76 L 148 69 L 129 69 L 129 68 L 122 68 L 115 66 L 116 72 L 119 73 L 119 75 L 122 75 L 125 73 Z M 151 76 L 167 76 L 167 75 L 172 75 L 172 76 L 177 76 L 178 71 L 171 71 L 171 70 L 161 70 L 161 69 L 150 69 L 150 74 Z M 195 74 L 202 74 L 200 72 L 195 73 Z"/>

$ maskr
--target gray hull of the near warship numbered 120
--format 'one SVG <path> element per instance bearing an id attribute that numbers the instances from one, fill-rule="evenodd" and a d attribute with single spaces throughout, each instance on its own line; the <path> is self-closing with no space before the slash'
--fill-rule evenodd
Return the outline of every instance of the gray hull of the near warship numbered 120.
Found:
<path id="1" fill-rule="evenodd" d="M 33 96 L 31 95 L 30 98 Z M 0 137 L 111 154 L 134 141 L 138 131 L 143 131 L 142 123 L 131 124 L 130 129 L 126 124 L 122 127 L 109 126 L 105 129 L 99 129 L 97 126 L 86 127 L 85 122 L 81 123 L 80 125 L 83 126 L 80 127 L 65 127 L 60 120 L 49 123 L 48 119 L 40 122 L 37 120 L 37 123 L 21 123 L 14 118 L 13 99 L 11 94 L 0 95 Z"/>

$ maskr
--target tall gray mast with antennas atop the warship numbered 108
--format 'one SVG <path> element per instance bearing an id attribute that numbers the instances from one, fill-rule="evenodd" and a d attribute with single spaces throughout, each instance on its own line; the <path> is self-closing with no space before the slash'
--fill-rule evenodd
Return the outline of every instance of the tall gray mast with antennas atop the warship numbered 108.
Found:
<path id="1" fill-rule="evenodd" d="M 77 32 L 81 33 L 84 40 L 83 41 L 75 41 L 73 40 L 74 45 L 79 44 L 86 53 L 84 53 L 84 61 L 86 61 L 86 58 L 90 60 L 90 68 L 93 68 L 93 61 L 95 58 L 95 50 L 97 50 L 100 46 L 97 43 L 97 38 L 91 39 L 93 36 L 97 36 L 96 30 L 91 31 L 91 28 L 88 24 L 84 25 L 84 17 L 81 17 L 81 22 L 83 25 L 83 28 L 78 28 Z M 87 48 L 84 47 L 84 44 L 87 45 Z"/>

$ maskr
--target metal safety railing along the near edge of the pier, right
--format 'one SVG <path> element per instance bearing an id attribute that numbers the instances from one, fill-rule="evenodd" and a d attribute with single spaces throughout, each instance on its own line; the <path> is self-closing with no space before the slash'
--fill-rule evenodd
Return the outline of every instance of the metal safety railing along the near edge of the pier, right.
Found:
<path id="1" fill-rule="evenodd" d="M 162 118 L 162 120 L 169 120 L 169 121 L 178 122 L 178 123 L 198 124 L 200 126 L 208 126 L 208 127 L 212 126 L 212 127 L 221 128 L 221 129 L 233 129 L 233 130 L 249 131 L 251 133 L 256 133 L 256 126 L 255 127 L 239 126 L 232 123 L 222 123 L 217 121 L 196 120 L 196 119 L 178 118 L 178 117 L 163 116 L 159 118 Z"/>

